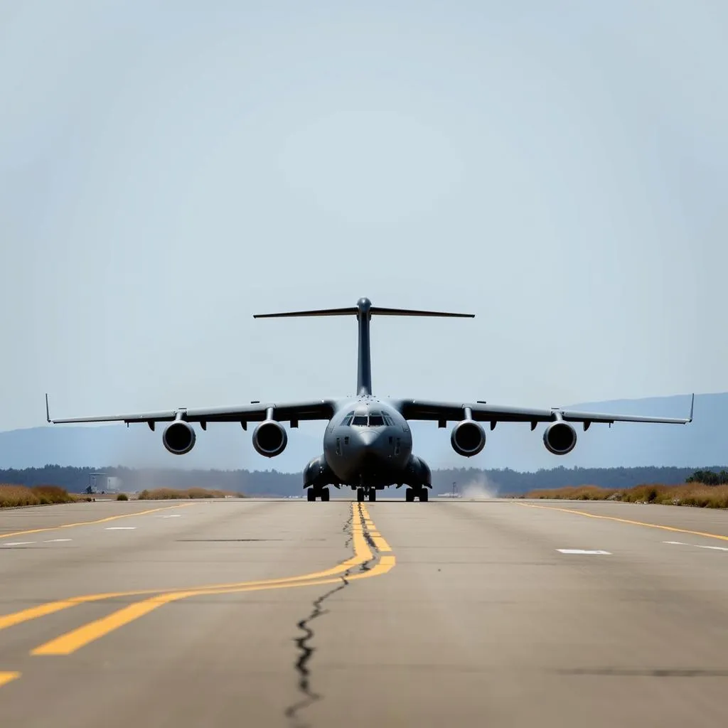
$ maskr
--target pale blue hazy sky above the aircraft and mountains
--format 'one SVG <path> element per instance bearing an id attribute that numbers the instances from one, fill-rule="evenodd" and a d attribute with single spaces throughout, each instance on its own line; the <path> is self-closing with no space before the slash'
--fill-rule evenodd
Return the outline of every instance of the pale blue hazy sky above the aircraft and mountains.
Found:
<path id="1" fill-rule="evenodd" d="M 0 6 L 0 429 L 728 390 L 728 7 Z M 646 413 L 649 414 L 649 413 Z M 676 412 L 683 416 L 682 411 Z"/>

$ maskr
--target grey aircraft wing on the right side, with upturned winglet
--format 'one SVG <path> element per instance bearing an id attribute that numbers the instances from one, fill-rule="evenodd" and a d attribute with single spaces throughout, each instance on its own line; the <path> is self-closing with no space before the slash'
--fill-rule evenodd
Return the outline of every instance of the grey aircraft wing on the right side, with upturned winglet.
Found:
<path id="1" fill-rule="evenodd" d="M 687 424 L 692 422 L 693 404 L 695 395 L 692 395 L 690 416 L 687 419 L 673 417 L 644 417 L 630 414 L 608 414 L 600 412 L 579 412 L 561 408 L 530 409 L 520 407 L 507 407 L 503 405 L 489 405 L 486 402 L 475 403 L 447 403 L 432 402 L 428 400 L 400 400 L 397 408 L 405 419 L 436 420 L 446 423 L 448 420 L 459 422 L 466 419 L 466 410 L 476 422 L 490 422 L 491 429 L 497 422 L 530 422 L 531 430 L 539 422 L 555 422 L 558 419 L 566 422 L 583 422 L 586 430 L 592 422 L 664 422 L 666 424 Z M 444 427 L 444 424 L 442 425 Z"/>

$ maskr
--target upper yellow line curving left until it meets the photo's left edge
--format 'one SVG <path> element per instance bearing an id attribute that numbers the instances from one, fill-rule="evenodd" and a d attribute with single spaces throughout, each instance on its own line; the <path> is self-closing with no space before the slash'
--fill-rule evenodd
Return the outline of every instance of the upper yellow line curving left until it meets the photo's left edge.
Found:
<path id="1" fill-rule="evenodd" d="M 355 509 L 355 505 L 352 504 L 352 513 L 355 513 Z M 331 567 L 331 569 L 324 569 L 323 571 L 313 571 L 310 574 L 301 574 L 300 576 L 294 577 L 280 577 L 279 579 L 261 579 L 259 581 L 232 582 L 229 584 L 210 584 L 200 587 L 194 587 L 194 591 L 214 592 L 215 590 L 220 589 L 265 587 L 267 585 L 277 584 L 288 585 L 291 582 L 307 582 L 311 579 L 322 579 L 325 577 L 333 577 L 338 574 L 344 574 L 347 569 L 351 569 L 353 566 L 359 566 L 361 563 L 369 561 L 371 558 L 373 558 L 369 545 L 364 538 L 362 525 L 361 523 L 357 523 L 356 518 L 352 521 L 352 539 L 354 543 L 354 555 L 351 558 L 347 558 L 346 561 L 342 561 L 336 566 Z M 30 620 L 36 620 L 39 617 L 45 617 L 47 614 L 61 612 L 63 611 L 63 609 L 70 609 L 71 607 L 77 606 L 79 604 L 88 604 L 94 601 L 104 601 L 105 599 L 124 598 L 130 596 L 145 596 L 147 594 L 160 593 L 187 593 L 189 591 L 190 587 L 176 587 L 172 589 L 141 589 L 134 591 L 87 594 L 85 596 L 76 596 L 67 599 L 60 599 L 58 601 L 49 602 L 48 604 L 41 604 L 39 606 L 33 606 L 28 609 L 23 609 L 20 612 L 14 612 L 12 614 L 4 614 L 3 616 L 0 616 L 0 630 L 22 624 L 23 622 L 28 622 Z"/>

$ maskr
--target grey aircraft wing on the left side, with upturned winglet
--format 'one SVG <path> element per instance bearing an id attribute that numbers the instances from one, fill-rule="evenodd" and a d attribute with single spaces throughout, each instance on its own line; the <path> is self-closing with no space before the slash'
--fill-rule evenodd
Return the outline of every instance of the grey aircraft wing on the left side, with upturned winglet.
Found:
<path id="1" fill-rule="evenodd" d="M 71 417 L 51 419 L 46 395 L 46 419 L 53 424 L 68 422 L 125 422 L 127 425 L 146 422 L 154 430 L 155 422 L 173 422 L 183 419 L 186 422 L 199 422 L 207 427 L 207 422 L 240 422 L 243 427 L 248 422 L 263 422 L 269 415 L 280 422 L 291 422 L 293 426 L 298 420 L 331 419 L 335 411 L 332 400 L 312 400 L 310 402 L 274 403 L 251 402 L 238 407 L 217 407 L 206 409 L 188 409 L 180 407 L 159 412 L 141 412 L 138 414 L 115 414 L 94 417 Z"/>

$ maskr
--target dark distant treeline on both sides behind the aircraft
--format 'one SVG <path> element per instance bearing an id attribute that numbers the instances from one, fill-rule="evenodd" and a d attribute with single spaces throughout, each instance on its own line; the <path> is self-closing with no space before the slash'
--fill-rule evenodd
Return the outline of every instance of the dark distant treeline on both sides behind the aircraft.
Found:
<path id="1" fill-rule="evenodd" d="M 93 472 L 104 472 L 119 478 L 119 490 L 127 492 L 153 488 L 207 488 L 244 493 L 247 496 L 289 496 L 304 493 L 301 473 L 276 470 L 136 470 L 111 466 L 92 468 L 46 465 L 24 470 L 0 470 L 0 483 L 29 487 L 52 484 L 66 488 L 69 493 L 82 493 L 88 487 Z M 713 484 L 713 477 L 716 478 L 715 484 L 728 482 L 726 466 L 703 467 L 697 472 L 695 467 L 556 467 L 536 472 L 518 472 L 509 468 L 453 468 L 434 470 L 432 489 L 435 493 L 450 492 L 455 483 L 457 491 L 462 491 L 467 486 L 482 486 L 493 494 L 519 495 L 537 488 L 584 485 L 621 489 L 644 483 L 678 485 L 701 479 L 701 482 Z M 695 480 L 688 480 L 689 478 Z"/>

